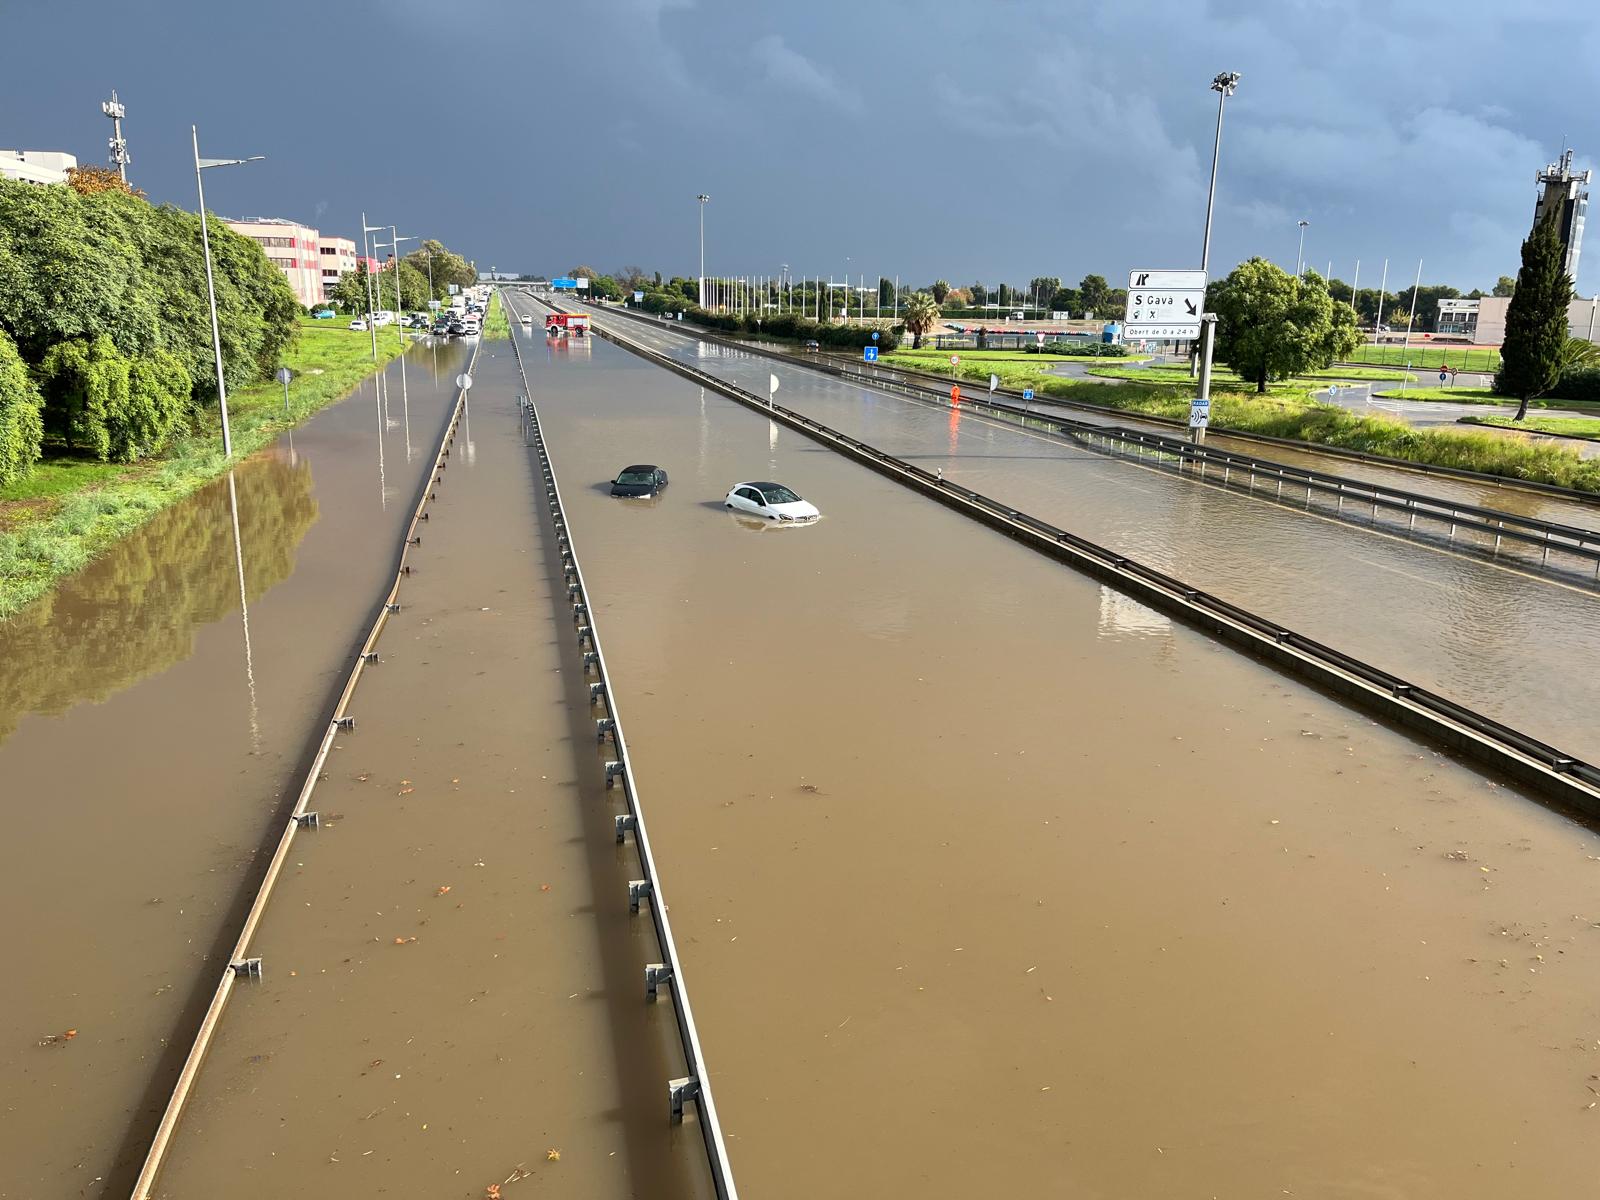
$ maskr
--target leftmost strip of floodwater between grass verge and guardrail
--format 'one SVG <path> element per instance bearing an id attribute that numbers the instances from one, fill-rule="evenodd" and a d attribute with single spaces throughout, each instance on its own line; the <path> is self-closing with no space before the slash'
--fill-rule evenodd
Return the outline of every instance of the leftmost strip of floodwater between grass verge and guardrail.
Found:
<path id="1" fill-rule="evenodd" d="M 411 350 L 0 624 L 0 1197 L 131 1187 L 466 355 Z"/>

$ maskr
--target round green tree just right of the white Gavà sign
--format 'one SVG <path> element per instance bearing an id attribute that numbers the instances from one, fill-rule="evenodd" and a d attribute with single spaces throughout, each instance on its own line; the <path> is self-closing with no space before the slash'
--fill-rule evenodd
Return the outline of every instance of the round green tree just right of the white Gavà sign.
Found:
<path id="1" fill-rule="evenodd" d="M 1216 357 L 1253 379 L 1258 392 L 1270 379 L 1328 366 L 1360 344 L 1355 310 L 1328 294 L 1322 275 L 1296 278 L 1262 258 L 1213 283 L 1206 307 L 1218 315 Z"/>

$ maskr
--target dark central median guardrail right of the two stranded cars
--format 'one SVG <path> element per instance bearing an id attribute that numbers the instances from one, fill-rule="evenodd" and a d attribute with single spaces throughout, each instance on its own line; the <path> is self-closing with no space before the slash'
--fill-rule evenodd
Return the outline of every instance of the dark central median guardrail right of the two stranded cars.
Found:
<path id="1" fill-rule="evenodd" d="M 1392 672 L 1344 654 L 1293 629 L 1258 616 L 1238 605 L 1190 587 L 1152 566 L 1067 533 L 1050 522 L 1013 509 L 982 493 L 963 488 L 942 475 L 888 454 L 877 446 L 813 421 L 768 397 L 755 395 L 728 381 L 653 350 L 603 325 L 597 333 L 677 374 L 757 410 L 773 421 L 806 434 L 854 458 L 878 474 L 933 496 L 990 528 L 1022 541 L 1032 549 L 1067 562 L 1085 573 L 1115 584 L 1134 598 L 1246 648 L 1258 658 L 1286 669 L 1318 686 L 1360 702 L 1386 720 L 1421 730 L 1434 741 L 1461 750 L 1526 784 L 1546 800 L 1571 808 L 1590 819 L 1600 818 L 1600 768 L 1542 742 L 1502 722 L 1475 712 Z"/>

